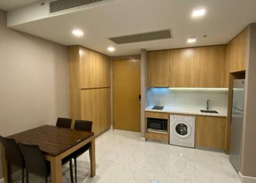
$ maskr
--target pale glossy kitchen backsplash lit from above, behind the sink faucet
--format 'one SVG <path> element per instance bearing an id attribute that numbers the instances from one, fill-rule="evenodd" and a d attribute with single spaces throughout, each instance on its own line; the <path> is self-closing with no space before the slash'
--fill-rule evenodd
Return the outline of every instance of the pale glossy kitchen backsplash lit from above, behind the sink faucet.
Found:
<path id="1" fill-rule="evenodd" d="M 210 109 L 227 110 L 227 88 L 148 88 L 148 106 L 167 106 L 206 109 L 210 99 Z"/>

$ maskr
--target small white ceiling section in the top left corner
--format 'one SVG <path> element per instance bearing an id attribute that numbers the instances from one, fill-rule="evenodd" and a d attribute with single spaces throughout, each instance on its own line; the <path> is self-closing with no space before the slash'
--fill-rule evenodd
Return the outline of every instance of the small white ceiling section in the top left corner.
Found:
<path id="1" fill-rule="evenodd" d="M 42 0 L 0 0 L 0 9 L 8 11 L 40 1 Z"/>

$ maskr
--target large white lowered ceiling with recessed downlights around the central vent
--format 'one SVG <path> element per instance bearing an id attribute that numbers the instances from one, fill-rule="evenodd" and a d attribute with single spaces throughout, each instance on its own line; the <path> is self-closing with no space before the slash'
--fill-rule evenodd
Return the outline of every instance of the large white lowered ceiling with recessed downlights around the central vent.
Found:
<path id="1" fill-rule="evenodd" d="M 205 8 L 206 14 L 192 19 L 191 12 L 197 8 Z M 115 0 L 12 28 L 63 45 L 83 45 L 109 56 L 121 56 L 138 54 L 140 49 L 226 44 L 248 24 L 256 22 L 255 10 L 255 0 Z M 82 29 L 84 36 L 74 37 L 71 34 L 74 28 Z M 172 39 L 122 45 L 108 40 L 167 28 L 172 29 Z M 196 36 L 195 44 L 187 44 L 190 36 Z M 108 52 L 108 46 L 116 51 Z"/>

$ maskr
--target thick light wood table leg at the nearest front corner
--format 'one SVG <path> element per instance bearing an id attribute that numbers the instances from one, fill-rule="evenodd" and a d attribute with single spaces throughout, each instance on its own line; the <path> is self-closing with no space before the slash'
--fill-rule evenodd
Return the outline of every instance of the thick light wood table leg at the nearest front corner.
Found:
<path id="1" fill-rule="evenodd" d="M 51 157 L 51 182 L 62 182 L 62 164 L 60 155 L 57 157 Z"/>

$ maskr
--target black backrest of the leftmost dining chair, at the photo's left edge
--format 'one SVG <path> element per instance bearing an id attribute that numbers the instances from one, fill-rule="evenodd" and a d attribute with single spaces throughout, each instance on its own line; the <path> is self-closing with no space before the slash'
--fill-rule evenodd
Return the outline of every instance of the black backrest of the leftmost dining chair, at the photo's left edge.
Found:
<path id="1" fill-rule="evenodd" d="M 4 145 L 5 155 L 8 163 L 24 168 L 24 159 L 15 139 L 0 136 L 0 142 Z"/>

